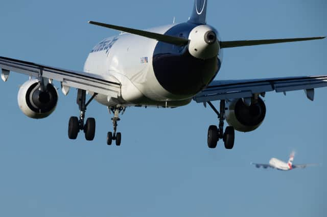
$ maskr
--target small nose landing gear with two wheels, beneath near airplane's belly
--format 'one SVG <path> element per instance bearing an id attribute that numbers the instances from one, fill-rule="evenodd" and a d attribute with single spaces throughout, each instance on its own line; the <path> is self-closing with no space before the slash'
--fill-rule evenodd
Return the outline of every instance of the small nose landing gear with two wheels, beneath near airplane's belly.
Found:
<path id="1" fill-rule="evenodd" d="M 108 107 L 108 111 L 110 113 L 110 111 L 113 113 L 113 118 L 111 118 L 112 120 L 112 125 L 113 125 L 113 133 L 112 132 L 108 132 L 107 134 L 107 144 L 111 145 L 112 144 L 112 140 L 116 141 L 116 146 L 120 146 L 121 145 L 121 141 L 122 141 L 122 133 L 121 132 L 116 132 L 117 131 L 117 122 L 120 121 L 121 119 L 119 118 L 119 114 L 122 112 L 122 114 L 124 114 L 126 107 Z"/>

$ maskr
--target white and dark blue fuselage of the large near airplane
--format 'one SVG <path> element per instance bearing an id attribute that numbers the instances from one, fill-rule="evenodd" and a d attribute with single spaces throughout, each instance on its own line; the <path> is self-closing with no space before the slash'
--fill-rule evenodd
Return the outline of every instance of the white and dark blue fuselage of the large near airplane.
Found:
<path id="1" fill-rule="evenodd" d="M 208 25 L 186 22 L 148 31 L 189 39 L 190 34 L 202 29 L 216 33 L 218 47 L 218 32 Z M 198 50 L 190 51 L 191 46 L 123 33 L 98 43 L 89 53 L 84 71 L 103 77 L 112 75 L 114 78 L 108 79 L 122 84 L 118 100 L 112 101 L 104 95 L 96 97 L 104 105 L 182 106 L 190 103 L 192 97 L 214 79 L 222 61 L 220 49 L 214 57 L 201 58 L 204 53 L 197 58 L 193 52 Z"/>

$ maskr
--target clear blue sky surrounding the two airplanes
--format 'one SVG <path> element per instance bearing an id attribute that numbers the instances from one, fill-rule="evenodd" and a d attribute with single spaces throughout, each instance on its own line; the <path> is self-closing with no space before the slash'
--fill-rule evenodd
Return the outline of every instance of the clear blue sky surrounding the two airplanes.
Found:
<path id="1" fill-rule="evenodd" d="M 116 31 L 88 20 L 147 29 L 188 19 L 193 0 L 3 0 L 0 56 L 82 70 L 87 53 Z M 327 36 L 327 2 L 213 1 L 207 22 L 223 40 Z M 327 74 L 327 39 L 224 50 L 216 79 Z M 78 116 L 76 90 L 59 95 L 57 110 L 33 120 L 17 105 L 27 76 L 0 83 L 0 216 L 325 216 L 327 88 L 315 101 L 303 91 L 267 93 L 267 116 L 233 150 L 206 145 L 215 113 L 192 102 L 175 109 L 128 108 L 119 122 L 122 146 L 107 146 L 105 106 L 93 102 L 96 138 L 68 140 Z M 57 87 L 60 87 L 56 83 Z M 218 105 L 218 102 L 215 102 Z M 282 172 L 250 162 L 271 157 L 321 164 Z"/>

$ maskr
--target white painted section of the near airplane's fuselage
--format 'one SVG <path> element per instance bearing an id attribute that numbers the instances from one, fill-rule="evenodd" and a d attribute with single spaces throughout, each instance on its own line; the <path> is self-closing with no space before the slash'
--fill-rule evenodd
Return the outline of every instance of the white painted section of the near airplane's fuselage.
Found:
<path id="1" fill-rule="evenodd" d="M 172 25 L 160 26 L 147 31 L 164 34 Z M 122 34 L 106 40 L 118 40 L 112 45 L 109 53 L 106 50 L 91 52 L 84 64 L 84 71 L 106 76 L 113 75 L 122 84 L 121 103 L 143 105 L 181 106 L 188 104 L 191 99 L 180 99 L 169 93 L 158 83 L 153 67 L 153 50 L 156 40 L 131 34 Z M 147 63 L 142 63 L 141 58 L 147 58 Z M 108 105 L 107 96 L 97 96 L 96 100 Z"/>

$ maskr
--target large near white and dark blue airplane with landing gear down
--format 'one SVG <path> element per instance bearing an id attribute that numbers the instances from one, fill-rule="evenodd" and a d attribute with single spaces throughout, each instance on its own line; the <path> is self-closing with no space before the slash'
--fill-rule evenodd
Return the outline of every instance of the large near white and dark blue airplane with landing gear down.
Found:
<path id="1" fill-rule="evenodd" d="M 209 126 L 208 147 L 216 148 L 222 139 L 226 149 L 233 148 L 235 130 L 249 132 L 264 121 L 266 106 L 261 97 L 266 92 L 305 90 L 313 100 L 314 89 L 327 86 L 327 75 L 214 80 L 222 64 L 223 49 L 324 37 L 222 41 L 218 31 L 206 24 L 207 2 L 195 0 L 186 22 L 147 31 L 89 21 L 124 33 L 99 42 L 90 51 L 83 72 L 0 57 L 2 79 L 6 82 L 10 71 L 30 77 L 19 89 L 18 105 L 25 115 L 35 119 L 48 117 L 57 106 L 54 80 L 60 82 L 64 95 L 69 88 L 77 88 L 80 116 L 69 119 L 69 139 L 76 139 L 79 131 L 83 131 L 86 140 L 93 140 L 96 122 L 94 118 L 85 121 L 86 108 L 93 99 L 107 106 L 113 113 L 113 132 L 107 134 L 108 145 L 113 140 L 116 145 L 121 144 L 117 122 L 127 107 L 174 108 L 192 100 L 204 106 L 208 104 L 219 119 L 218 127 Z M 90 94 L 89 100 L 86 93 Z M 215 100 L 220 100 L 219 111 L 212 103 Z M 229 126 L 224 130 L 225 120 Z"/>

